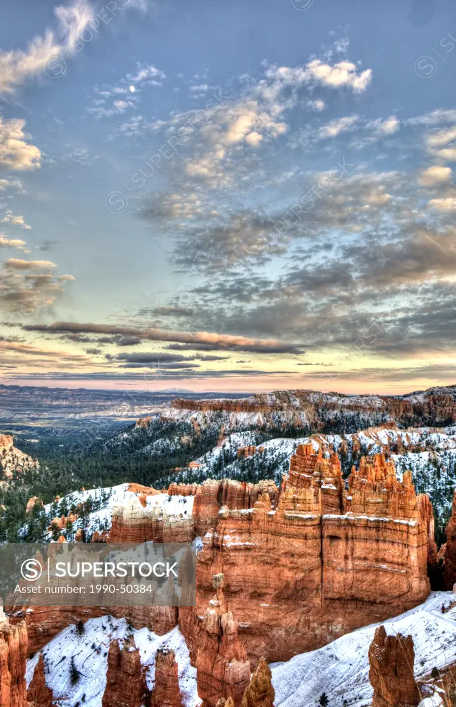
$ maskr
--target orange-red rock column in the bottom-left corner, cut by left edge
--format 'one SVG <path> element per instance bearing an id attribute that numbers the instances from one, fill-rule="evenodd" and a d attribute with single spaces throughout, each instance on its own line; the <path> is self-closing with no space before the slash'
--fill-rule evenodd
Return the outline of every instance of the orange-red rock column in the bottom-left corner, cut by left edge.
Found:
<path id="1" fill-rule="evenodd" d="M 28 707 L 25 621 L 13 626 L 0 609 L 0 707 Z"/>

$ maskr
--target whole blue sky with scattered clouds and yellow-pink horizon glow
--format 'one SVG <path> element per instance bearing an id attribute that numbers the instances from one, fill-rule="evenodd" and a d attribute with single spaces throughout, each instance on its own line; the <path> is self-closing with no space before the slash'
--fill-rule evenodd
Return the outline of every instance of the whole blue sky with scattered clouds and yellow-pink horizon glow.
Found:
<path id="1" fill-rule="evenodd" d="M 456 382 L 450 0 L 15 0 L 0 375 Z"/>

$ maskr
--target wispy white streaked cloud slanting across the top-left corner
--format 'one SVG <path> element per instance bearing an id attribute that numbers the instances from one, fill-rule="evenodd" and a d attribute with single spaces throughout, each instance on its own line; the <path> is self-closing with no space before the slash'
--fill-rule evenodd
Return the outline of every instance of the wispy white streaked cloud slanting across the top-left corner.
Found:
<path id="1" fill-rule="evenodd" d="M 44 77 L 50 59 L 73 53 L 76 40 L 94 18 L 93 8 L 85 0 L 54 8 L 58 20 L 56 30 L 35 37 L 28 48 L 0 52 L 0 95 L 11 95 L 16 88 L 35 76 Z"/>

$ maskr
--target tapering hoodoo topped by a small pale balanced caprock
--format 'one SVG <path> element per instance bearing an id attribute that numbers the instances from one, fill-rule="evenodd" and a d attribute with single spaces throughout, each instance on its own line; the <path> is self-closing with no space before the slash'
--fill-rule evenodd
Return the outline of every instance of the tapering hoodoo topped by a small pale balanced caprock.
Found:
<path id="1" fill-rule="evenodd" d="M 203 705 L 215 706 L 223 696 L 232 697 L 234 706 L 240 707 L 250 682 L 250 663 L 239 641 L 236 621 L 224 602 L 223 583 L 223 575 L 212 578 L 216 594 L 203 617 L 193 617 L 195 633 L 190 649 Z"/>

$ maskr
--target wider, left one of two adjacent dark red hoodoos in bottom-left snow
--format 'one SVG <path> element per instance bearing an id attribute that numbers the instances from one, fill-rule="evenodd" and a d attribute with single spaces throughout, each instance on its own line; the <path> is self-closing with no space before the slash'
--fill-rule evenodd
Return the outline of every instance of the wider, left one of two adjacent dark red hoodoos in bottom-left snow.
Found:
<path id="1" fill-rule="evenodd" d="M 112 641 L 102 707 L 143 707 L 148 697 L 150 691 L 145 683 L 138 648 L 124 641 L 121 649 L 119 641 Z"/>

